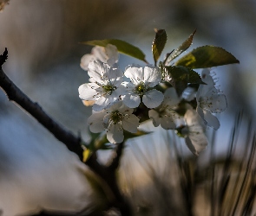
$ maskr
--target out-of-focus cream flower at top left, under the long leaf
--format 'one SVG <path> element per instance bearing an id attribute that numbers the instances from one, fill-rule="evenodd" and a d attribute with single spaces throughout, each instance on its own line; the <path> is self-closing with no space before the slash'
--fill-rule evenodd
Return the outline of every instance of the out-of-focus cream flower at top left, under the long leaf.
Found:
<path id="1" fill-rule="evenodd" d="M 103 63 L 108 63 L 108 66 L 113 66 L 118 61 L 117 48 L 112 44 L 108 44 L 105 48 L 95 46 L 92 48 L 91 54 L 82 56 L 80 67 L 87 71 L 89 63 L 94 60 L 101 60 Z"/>

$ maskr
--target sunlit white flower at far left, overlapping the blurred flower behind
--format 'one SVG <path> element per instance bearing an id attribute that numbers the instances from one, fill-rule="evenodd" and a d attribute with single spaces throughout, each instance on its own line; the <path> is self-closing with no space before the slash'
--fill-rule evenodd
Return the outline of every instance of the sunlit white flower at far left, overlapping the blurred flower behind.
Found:
<path id="1" fill-rule="evenodd" d="M 120 69 L 95 60 L 89 63 L 88 74 L 95 82 L 79 86 L 78 92 L 82 100 L 95 100 L 93 110 L 101 111 L 119 99 L 123 77 Z"/>

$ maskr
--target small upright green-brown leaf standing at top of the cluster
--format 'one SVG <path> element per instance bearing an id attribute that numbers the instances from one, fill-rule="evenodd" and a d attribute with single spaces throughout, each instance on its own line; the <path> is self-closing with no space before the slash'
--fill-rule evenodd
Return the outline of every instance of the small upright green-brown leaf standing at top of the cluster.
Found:
<path id="1" fill-rule="evenodd" d="M 163 48 L 167 43 L 167 33 L 164 29 L 154 29 L 155 37 L 152 44 L 152 54 L 154 57 L 154 65 L 156 66 L 157 60 L 161 55 Z"/>

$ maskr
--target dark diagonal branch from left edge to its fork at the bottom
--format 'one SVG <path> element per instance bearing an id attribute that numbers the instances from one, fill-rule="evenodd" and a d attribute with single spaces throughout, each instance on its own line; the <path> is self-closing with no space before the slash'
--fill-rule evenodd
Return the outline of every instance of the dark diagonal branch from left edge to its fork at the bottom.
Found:
<path id="1" fill-rule="evenodd" d="M 8 77 L 3 73 L 2 65 L 7 59 L 7 49 L 0 55 L 0 87 L 3 88 L 3 92 L 11 100 L 20 105 L 25 111 L 30 113 L 31 116 L 42 124 L 49 132 L 51 132 L 56 139 L 64 143 L 67 148 L 79 156 L 82 161 L 82 140 L 80 137 L 75 137 L 69 130 L 65 130 L 62 125 L 57 124 L 53 118 L 43 111 L 42 107 L 36 102 L 33 102 L 27 95 L 25 95 Z M 115 195 L 115 200 L 110 201 L 108 206 L 115 206 L 120 209 L 121 215 L 130 215 L 131 209 L 128 201 L 122 196 L 116 181 L 116 168 L 118 168 L 123 143 L 121 143 L 117 150 L 116 156 L 109 166 L 103 166 L 97 161 L 96 154 L 94 153 L 87 162 L 85 162 L 89 168 L 91 168 L 95 174 L 101 176 L 102 180 L 106 181 L 108 187 Z"/>

